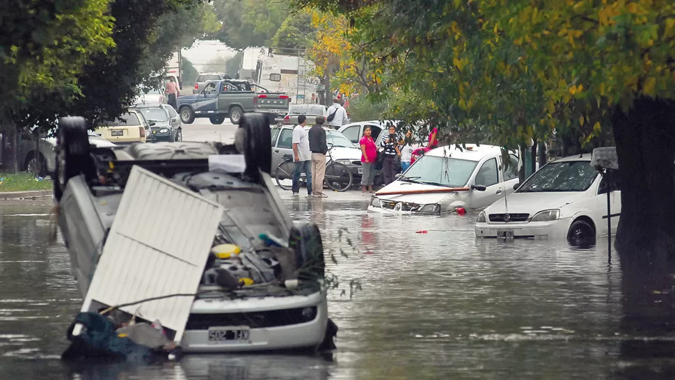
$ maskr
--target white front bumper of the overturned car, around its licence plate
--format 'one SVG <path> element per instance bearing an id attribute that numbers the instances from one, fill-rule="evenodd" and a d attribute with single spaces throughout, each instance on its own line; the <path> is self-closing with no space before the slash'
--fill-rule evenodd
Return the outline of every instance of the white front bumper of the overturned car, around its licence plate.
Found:
<path id="1" fill-rule="evenodd" d="M 246 352 L 318 347 L 326 336 L 328 308 L 325 293 L 310 296 L 268 297 L 260 299 L 197 300 L 191 317 L 200 314 L 253 313 L 291 308 L 317 308 L 310 322 L 273 327 L 251 327 L 248 341 L 209 342 L 209 330 L 186 330 L 180 345 L 185 352 Z M 211 326 L 218 327 L 218 326 Z"/>

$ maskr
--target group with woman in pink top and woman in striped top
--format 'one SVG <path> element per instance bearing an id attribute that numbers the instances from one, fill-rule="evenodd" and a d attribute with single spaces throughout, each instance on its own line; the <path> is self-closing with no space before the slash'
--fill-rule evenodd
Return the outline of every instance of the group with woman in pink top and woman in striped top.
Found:
<path id="1" fill-rule="evenodd" d="M 389 135 L 380 142 L 379 149 L 372 138 L 372 129 L 365 127 L 363 137 L 358 142 L 361 147 L 361 166 L 363 167 L 363 176 L 361 177 L 361 189 L 363 192 L 370 191 L 374 193 L 373 181 L 375 171 L 381 168 L 382 184 L 388 185 L 394 182 L 396 175 L 406 171 L 406 169 L 415 162 L 415 157 L 424 155 L 425 152 L 436 148 L 438 145 L 438 129 L 434 128 L 429 134 L 427 146 L 413 148 L 411 139 L 413 132 L 408 129 L 405 138 L 396 132 L 394 125 L 389 126 Z"/>

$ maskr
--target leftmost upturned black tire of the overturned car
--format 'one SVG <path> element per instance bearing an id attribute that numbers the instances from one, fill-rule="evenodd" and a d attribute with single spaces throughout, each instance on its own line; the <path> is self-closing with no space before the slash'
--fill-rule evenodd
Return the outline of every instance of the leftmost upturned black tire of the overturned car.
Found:
<path id="1" fill-rule="evenodd" d="M 84 173 L 93 177 L 95 168 L 89 157 L 89 136 L 84 118 L 67 116 L 58 120 L 56 136 L 56 168 L 54 170 L 54 198 L 61 200 L 70 178 Z"/>

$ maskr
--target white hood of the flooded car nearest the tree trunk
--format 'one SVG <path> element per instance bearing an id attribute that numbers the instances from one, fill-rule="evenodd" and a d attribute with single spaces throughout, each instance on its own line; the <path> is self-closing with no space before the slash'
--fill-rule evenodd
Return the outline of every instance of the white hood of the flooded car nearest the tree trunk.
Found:
<path id="1" fill-rule="evenodd" d="M 544 209 L 559 209 L 583 196 L 580 191 L 550 193 L 512 193 L 506 201 L 500 198 L 485 209 L 486 214 L 530 214 L 534 216 Z M 508 208 L 507 208 L 508 206 Z"/>

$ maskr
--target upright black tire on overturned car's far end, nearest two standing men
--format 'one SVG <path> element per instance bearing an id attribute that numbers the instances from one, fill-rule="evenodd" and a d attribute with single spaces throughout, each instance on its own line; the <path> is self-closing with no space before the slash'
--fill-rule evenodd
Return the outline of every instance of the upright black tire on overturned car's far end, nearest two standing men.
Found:
<path id="1" fill-rule="evenodd" d="M 244 159 L 246 174 L 255 177 L 257 170 L 272 173 L 272 135 L 267 119 L 260 113 L 241 116 L 239 128 L 244 128 Z"/>

